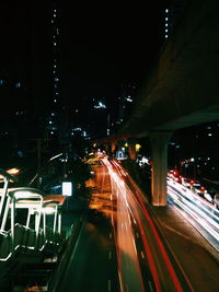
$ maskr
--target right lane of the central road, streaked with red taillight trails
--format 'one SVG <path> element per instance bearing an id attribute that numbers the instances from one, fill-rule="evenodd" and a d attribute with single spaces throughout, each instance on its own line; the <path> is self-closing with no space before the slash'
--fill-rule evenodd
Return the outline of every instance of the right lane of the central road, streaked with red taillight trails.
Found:
<path id="1" fill-rule="evenodd" d="M 135 242 L 139 242 L 139 240 L 141 242 L 141 247 L 137 253 L 141 262 L 145 261 L 145 269 L 141 264 L 141 277 L 147 289 L 150 289 L 148 291 L 193 291 L 182 267 L 171 252 L 166 252 L 168 247 L 162 243 L 141 191 L 118 163 L 113 161 L 113 167 L 106 159 L 104 163 L 113 177 L 114 188 L 119 192 L 119 198 L 124 200 L 126 212 L 129 213 L 138 229 Z"/>

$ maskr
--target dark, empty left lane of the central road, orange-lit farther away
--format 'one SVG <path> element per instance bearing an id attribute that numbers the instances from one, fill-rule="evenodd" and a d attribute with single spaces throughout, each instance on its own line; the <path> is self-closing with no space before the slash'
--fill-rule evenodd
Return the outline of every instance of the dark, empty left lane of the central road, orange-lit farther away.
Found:
<path id="1" fill-rule="evenodd" d="M 53 292 L 111 292 L 120 291 L 117 256 L 111 224 L 111 186 L 103 166 L 95 167 L 95 178 L 88 183 L 92 188 L 89 211 L 74 246 L 70 247 L 65 270 L 49 291 Z"/>

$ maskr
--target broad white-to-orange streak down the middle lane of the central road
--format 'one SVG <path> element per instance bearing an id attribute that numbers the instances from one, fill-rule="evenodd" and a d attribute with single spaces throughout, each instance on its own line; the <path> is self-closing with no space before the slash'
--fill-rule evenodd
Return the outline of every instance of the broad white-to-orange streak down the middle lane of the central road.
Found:
<path id="1" fill-rule="evenodd" d="M 137 289 L 137 291 L 145 292 L 132 226 L 127 224 L 130 218 L 129 213 L 126 212 L 128 202 L 125 183 L 107 161 L 105 164 L 108 168 L 112 187 L 116 189 L 114 192 L 117 195 L 117 215 L 114 226 L 114 237 L 118 258 L 120 289 L 125 291 Z"/>

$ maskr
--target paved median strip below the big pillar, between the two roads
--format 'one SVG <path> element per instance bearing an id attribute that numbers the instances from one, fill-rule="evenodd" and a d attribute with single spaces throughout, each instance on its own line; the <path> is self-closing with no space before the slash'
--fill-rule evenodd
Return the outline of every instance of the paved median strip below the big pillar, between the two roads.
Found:
<path id="1" fill-rule="evenodd" d="M 219 253 L 172 206 L 151 209 L 195 292 L 218 292 Z"/>

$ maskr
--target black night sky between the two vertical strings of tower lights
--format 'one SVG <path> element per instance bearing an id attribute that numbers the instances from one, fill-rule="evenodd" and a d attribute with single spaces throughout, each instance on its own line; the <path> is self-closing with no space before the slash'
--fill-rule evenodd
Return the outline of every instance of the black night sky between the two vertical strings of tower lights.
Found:
<path id="1" fill-rule="evenodd" d="M 62 7 L 64 96 L 113 100 L 123 82 L 139 83 L 161 45 L 163 8 L 160 1 Z"/>

